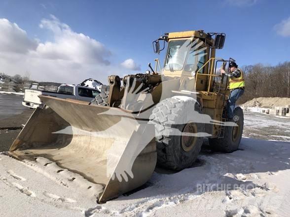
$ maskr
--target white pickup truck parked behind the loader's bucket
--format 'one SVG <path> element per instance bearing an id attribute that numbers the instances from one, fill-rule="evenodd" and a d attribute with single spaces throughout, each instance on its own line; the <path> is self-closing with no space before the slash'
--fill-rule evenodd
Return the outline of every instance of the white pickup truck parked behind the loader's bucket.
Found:
<path id="1" fill-rule="evenodd" d="M 22 105 L 30 107 L 30 108 L 37 108 L 42 107 L 43 103 L 38 97 L 38 95 L 48 95 L 57 98 L 70 98 L 76 99 L 80 101 L 92 101 L 93 98 L 96 97 L 100 93 L 99 90 L 95 88 L 77 86 L 77 85 L 68 85 L 63 84 L 59 86 L 57 92 L 50 92 L 50 91 L 37 91 L 33 89 L 25 90 L 24 100 L 22 101 Z"/>

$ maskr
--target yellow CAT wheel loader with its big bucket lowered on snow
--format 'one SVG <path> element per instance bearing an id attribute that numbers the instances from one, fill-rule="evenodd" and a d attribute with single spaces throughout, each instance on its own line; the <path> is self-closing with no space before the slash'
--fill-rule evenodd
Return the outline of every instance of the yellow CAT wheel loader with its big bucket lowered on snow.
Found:
<path id="1" fill-rule="evenodd" d="M 155 166 L 191 167 L 205 137 L 219 152 L 238 149 L 243 111 L 227 119 L 228 79 L 218 72 L 229 58 L 216 58 L 225 34 L 165 33 L 153 41 L 155 59 L 146 73 L 111 75 L 105 92 L 91 102 L 41 95 L 37 108 L 9 155 L 45 157 L 102 186 L 104 203 L 144 185 Z"/>

